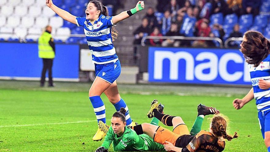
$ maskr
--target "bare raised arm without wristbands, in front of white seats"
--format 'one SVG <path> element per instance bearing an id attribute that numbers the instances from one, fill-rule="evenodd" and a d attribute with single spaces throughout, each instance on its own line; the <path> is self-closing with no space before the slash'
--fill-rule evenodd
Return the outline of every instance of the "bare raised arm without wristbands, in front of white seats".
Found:
<path id="1" fill-rule="evenodd" d="M 64 20 L 67 20 L 73 24 L 76 24 L 76 16 L 68 13 L 65 10 L 60 9 L 52 3 L 52 0 L 46 0 L 46 5 L 51 8 L 56 14 L 58 14 Z"/>

